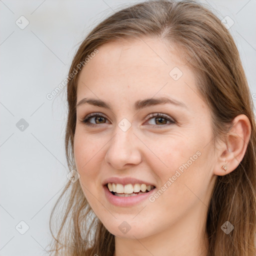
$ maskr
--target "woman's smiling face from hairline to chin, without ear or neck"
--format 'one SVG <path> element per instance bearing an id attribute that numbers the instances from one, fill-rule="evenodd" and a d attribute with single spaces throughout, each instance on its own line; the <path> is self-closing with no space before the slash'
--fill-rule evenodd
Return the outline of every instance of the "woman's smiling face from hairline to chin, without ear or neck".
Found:
<path id="1" fill-rule="evenodd" d="M 189 232 L 191 223 L 205 221 L 216 177 L 211 118 L 179 53 L 160 39 L 110 42 L 79 74 L 79 182 L 116 236 L 143 238 L 182 225 Z M 101 116 L 83 122 L 93 113 Z M 135 193 L 145 189 L 142 184 L 154 188 Z"/>

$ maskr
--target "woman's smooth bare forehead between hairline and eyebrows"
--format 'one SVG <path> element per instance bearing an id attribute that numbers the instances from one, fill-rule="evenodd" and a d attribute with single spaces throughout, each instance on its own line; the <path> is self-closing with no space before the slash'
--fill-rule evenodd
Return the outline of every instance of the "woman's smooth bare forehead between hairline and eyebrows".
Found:
<path id="1" fill-rule="evenodd" d="M 116 95 L 123 99 L 132 96 L 134 101 L 155 94 L 182 99 L 188 90 L 195 90 L 194 74 L 182 60 L 182 53 L 160 39 L 113 41 L 97 49 L 80 71 L 77 102 L 88 94 L 110 96 L 112 101 Z M 176 79 L 175 74 L 180 77 Z"/>

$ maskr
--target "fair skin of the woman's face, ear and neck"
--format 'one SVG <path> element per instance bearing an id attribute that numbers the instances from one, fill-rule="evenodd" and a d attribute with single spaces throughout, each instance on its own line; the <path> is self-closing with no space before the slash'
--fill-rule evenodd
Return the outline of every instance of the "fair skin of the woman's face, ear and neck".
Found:
<path id="1" fill-rule="evenodd" d="M 77 102 L 84 97 L 102 99 L 112 110 L 88 103 L 77 106 L 74 157 L 86 199 L 115 235 L 114 256 L 206 256 L 205 221 L 214 181 L 241 161 L 250 135 L 248 118 L 236 116 L 228 145 L 219 141 L 214 151 L 209 107 L 196 89 L 194 73 L 174 47 L 143 38 L 109 42 L 98 50 L 79 74 Z M 173 67 L 183 72 L 178 80 L 169 75 Z M 160 96 L 186 107 L 164 103 L 133 109 L 136 100 Z M 94 126 L 87 126 L 82 120 L 93 112 L 106 118 L 92 117 Z M 146 117 L 150 113 L 166 114 L 176 122 L 163 117 L 161 124 L 157 117 Z M 118 126 L 123 118 L 131 124 L 127 131 Z M 105 178 L 131 176 L 160 189 L 197 151 L 197 159 L 153 202 L 145 199 L 120 207 L 106 199 Z M 221 169 L 223 164 L 227 171 Z M 118 228 L 122 221 L 130 226 L 125 234 Z"/>

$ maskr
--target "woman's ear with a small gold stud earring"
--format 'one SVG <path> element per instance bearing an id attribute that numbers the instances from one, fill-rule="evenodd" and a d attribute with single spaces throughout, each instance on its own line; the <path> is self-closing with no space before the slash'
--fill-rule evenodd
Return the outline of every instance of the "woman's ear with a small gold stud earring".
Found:
<path id="1" fill-rule="evenodd" d="M 214 166 L 215 175 L 225 175 L 233 171 L 241 162 L 251 133 L 251 125 L 245 114 L 237 115 L 232 121 L 232 127 L 226 135 L 226 142 L 220 142 L 217 161 Z M 221 167 L 226 166 L 226 171 Z"/>

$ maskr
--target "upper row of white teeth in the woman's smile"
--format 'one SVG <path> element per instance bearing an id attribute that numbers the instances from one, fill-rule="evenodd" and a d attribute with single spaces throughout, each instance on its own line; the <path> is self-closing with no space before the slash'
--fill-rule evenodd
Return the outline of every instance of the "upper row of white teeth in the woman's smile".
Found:
<path id="1" fill-rule="evenodd" d="M 138 184 L 135 183 L 134 185 L 132 184 L 116 184 L 116 183 L 107 183 L 107 187 L 110 192 L 116 192 L 120 194 L 119 196 L 129 196 L 129 195 L 137 195 L 134 193 L 139 192 L 138 194 L 142 192 L 150 191 L 154 186 L 153 185 L 146 185 L 146 184 Z"/>

